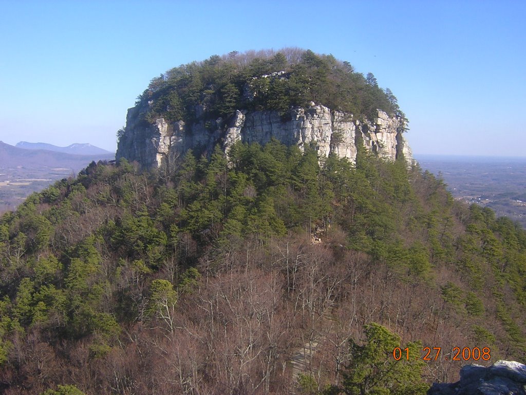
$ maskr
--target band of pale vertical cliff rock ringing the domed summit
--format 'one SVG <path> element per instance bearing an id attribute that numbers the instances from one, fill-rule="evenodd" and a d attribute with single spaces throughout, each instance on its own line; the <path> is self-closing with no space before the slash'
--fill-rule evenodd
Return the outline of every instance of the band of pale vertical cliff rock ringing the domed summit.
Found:
<path id="1" fill-rule="evenodd" d="M 117 160 L 125 157 L 146 167 L 169 164 L 189 149 L 211 152 L 221 144 L 228 155 L 237 141 L 265 144 L 277 139 L 286 145 L 304 149 L 313 143 L 320 156 L 336 153 L 352 163 L 356 161 L 357 144 L 386 160 L 401 154 L 413 163 L 412 153 L 403 138 L 403 120 L 378 110 L 374 120 L 360 121 L 339 111 L 311 103 L 307 108 L 295 108 L 284 121 L 276 111 L 236 111 L 229 122 L 221 118 L 213 122 L 186 125 L 183 121 L 168 123 L 158 118 L 155 123 L 144 121 L 145 109 L 128 110 L 126 127 L 117 147 Z"/>

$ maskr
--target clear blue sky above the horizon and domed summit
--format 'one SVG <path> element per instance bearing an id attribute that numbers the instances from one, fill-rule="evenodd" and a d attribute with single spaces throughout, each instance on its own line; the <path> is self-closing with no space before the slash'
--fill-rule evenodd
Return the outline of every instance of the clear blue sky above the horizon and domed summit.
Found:
<path id="1" fill-rule="evenodd" d="M 526 156 L 526 1 L 0 0 L 0 140 L 116 149 L 151 78 L 297 46 L 389 87 L 415 154 Z"/>

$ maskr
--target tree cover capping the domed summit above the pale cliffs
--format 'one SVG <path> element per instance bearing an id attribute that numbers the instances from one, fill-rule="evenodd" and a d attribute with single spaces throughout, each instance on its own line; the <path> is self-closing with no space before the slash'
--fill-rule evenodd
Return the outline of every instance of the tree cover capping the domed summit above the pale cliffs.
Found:
<path id="1" fill-rule="evenodd" d="M 164 117 L 211 127 L 236 110 L 276 110 L 286 118 L 290 108 L 311 101 L 358 118 L 372 119 L 379 108 L 405 119 L 396 96 L 372 73 L 364 76 L 349 62 L 299 48 L 231 52 L 175 67 L 151 80 L 136 105 L 147 109 L 149 123 Z"/>

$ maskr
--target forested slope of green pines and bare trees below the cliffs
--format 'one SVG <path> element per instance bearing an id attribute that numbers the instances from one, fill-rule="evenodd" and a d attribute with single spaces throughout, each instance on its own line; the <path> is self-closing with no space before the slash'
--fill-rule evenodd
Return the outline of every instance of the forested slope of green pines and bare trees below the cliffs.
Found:
<path id="1" fill-rule="evenodd" d="M 2 217 L 0 391 L 421 394 L 454 347 L 523 360 L 518 225 L 403 158 L 229 155 L 92 163 Z"/>

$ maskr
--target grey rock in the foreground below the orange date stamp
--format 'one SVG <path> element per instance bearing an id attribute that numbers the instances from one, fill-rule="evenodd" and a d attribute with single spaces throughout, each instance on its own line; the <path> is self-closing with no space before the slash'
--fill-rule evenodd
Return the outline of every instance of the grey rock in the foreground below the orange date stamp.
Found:
<path id="1" fill-rule="evenodd" d="M 434 383 L 428 395 L 526 395 L 526 366 L 497 361 L 490 367 L 466 365 L 456 383 Z"/>

